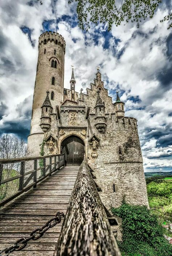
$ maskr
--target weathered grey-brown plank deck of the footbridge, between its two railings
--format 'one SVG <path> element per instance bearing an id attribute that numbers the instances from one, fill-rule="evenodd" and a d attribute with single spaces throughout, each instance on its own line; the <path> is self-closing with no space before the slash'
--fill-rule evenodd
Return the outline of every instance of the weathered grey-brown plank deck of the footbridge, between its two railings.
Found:
<path id="1" fill-rule="evenodd" d="M 19 196 L 0 210 L 0 250 L 13 245 L 21 237 L 30 236 L 57 211 L 66 213 L 79 167 L 63 167 L 46 178 L 37 188 Z M 49 229 L 43 237 L 30 241 L 13 256 L 53 256 L 62 223 Z"/>

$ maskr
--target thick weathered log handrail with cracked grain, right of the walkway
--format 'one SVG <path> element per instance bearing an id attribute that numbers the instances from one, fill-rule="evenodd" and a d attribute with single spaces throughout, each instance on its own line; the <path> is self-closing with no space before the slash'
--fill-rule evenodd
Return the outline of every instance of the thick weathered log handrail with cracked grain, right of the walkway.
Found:
<path id="1" fill-rule="evenodd" d="M 105 209 L 84 158 L 54 256 L 120 256 Z"/>

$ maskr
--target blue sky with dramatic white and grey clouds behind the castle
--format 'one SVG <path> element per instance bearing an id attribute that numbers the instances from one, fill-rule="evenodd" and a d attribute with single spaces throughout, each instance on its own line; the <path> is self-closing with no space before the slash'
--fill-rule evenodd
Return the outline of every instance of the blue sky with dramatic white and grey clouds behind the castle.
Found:
<path id="1" fill-rule="evenodd" d="M 172 28 L 160 23 L 172 11 L 163 0 L 152 19 L 78 28 L 76 3 L 67 0 L 0 1 L 0 136 L 27 140 L 38 57 L 38 37 L 56 31 L 66 41 L 64 87 L 74 65 L 76 91 L 86 91 L 100 67 L 104 86 L 138 120 L 144 171 L 172 171 Z M 84 92 L 83 91 L 83 92 Z"/>

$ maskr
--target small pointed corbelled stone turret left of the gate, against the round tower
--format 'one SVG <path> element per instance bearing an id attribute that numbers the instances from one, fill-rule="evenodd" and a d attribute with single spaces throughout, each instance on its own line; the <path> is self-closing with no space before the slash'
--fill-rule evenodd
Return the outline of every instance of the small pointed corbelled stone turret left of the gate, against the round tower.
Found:
<path id="1" fill-rule="evenodd" d="M 44 103 L 42 104 L 42 112 L 41 112 L 41 124 L 40 127 L 43 132 L 46 132 L 51 126 L 51 117 L 50 114 L 53 113 L 53 107 L 50 103 L 49 99 L 49 91 L 46 92 L 46 98 Z"/>

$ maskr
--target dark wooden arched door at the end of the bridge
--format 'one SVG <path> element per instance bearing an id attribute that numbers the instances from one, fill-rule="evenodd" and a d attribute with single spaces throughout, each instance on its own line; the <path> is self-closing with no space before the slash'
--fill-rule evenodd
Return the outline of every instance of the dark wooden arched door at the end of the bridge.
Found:
<path id="1" fill-rule="evenodd" d="M 65 165 L 81 165 L 85 153 L 83 140 L 77 136 L 69 136 L 62 141 L 61 153 L 65 154 Z"/>

